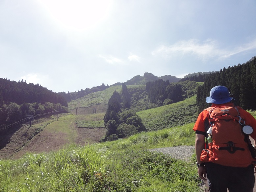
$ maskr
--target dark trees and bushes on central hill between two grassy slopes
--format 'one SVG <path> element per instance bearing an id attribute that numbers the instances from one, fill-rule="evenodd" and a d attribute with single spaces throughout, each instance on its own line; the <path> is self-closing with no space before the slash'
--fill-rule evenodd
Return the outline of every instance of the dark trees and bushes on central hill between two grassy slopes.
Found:
<path id="1" fill-rule="evenodd" d="M 107 133 L 102 141 L 116 140 L 118 137 L 148 131 L 136 113 L 137 111 L 183 101 L 195 95 L 199 85 L 194 81 L 169 83 L 168 80 L 159 79 L 154 82 L 147 82 L 146 86 L 131 86 L 127 89 L 123 83 L 121 94 L 115 90 L 109 99 L 104 116 Z"/>

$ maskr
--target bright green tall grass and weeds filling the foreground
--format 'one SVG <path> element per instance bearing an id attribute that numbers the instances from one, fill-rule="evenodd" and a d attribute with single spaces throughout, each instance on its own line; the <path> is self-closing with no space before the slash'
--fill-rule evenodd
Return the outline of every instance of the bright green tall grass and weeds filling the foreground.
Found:
<path id="1" fill-rule="evenodd" d="M 0 160 L 1 192 L 199 191 L 194 159 L 148 149 L 193 145 L 193 124 L 127 139 Z M 193 165 L 192 165 L 193 164 Z"/>

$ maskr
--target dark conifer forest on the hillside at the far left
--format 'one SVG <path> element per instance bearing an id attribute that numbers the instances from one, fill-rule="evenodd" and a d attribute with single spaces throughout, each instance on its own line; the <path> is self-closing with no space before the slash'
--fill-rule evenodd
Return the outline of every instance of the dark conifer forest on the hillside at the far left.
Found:
<path id="1" fill-rule="evenodd" d="M 39 84 L 0 78 L 0 131 L 7 125 L 29 120 L 39 114 L 67 112 L 67 101 L 60 94 Z"/>

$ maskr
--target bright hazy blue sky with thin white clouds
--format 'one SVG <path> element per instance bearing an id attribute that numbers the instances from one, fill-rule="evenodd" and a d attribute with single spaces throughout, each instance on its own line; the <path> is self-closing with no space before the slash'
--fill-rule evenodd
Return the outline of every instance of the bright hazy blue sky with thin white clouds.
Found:
<path id="1" fill-rule="evenodd" d="M 255 0 L 0 0 L 0 78 L 75 92 L 256 56 Z"/>

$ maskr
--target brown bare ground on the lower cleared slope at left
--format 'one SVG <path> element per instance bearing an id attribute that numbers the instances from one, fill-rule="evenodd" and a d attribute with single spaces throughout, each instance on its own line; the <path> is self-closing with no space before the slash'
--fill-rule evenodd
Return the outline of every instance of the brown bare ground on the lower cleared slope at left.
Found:
<path id="1" fill-rule="evenodd" d="M 51 117 L 52 118 L 52 117 Z M 57 151 L 70 144 L 85 145 L 97 143 L 101 137 L 105 136 L 105 128 L 77 128 L 72 123 L 70 134 L 65 132 L 51 132 L 44 128 L 43 131 L 34 136 L 36 129 L 51 120 L 51 118 L 41 118 L 35 120 L 32 127 L 30 123 L 22 125 L 21 128 L 9 134 L 0 135 L 0 158 L 21 158 L 27 152 L 42 153 Z M 57 116 L 52 119 L 56 122 Z M 33 137 L 33 138 L 32 138 Z M 73 141 L 70 141 L 72 137 Z M 29 139 L 32 138 L 32 139 Z"/>

